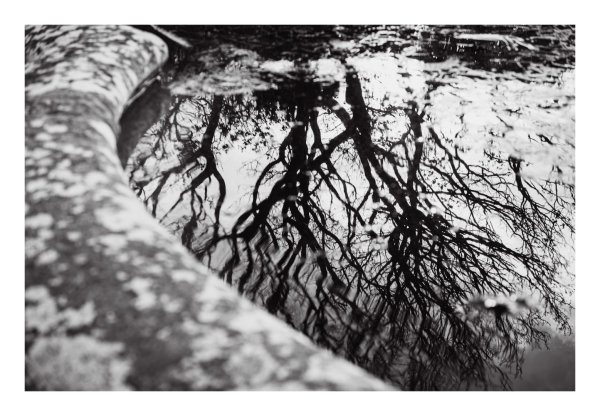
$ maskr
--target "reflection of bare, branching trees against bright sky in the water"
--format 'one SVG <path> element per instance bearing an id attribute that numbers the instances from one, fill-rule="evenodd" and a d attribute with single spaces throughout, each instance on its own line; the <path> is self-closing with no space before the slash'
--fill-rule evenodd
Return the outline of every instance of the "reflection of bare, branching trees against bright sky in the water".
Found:
<path id="1" fill-rule="evenodd" d="M 547 319 L 570 331 L 574 187 L 493 147 L 469 160 L 430 102 L 379 99 L 369 82 L 345 63 L 334 83 L 178 97 L 132 186 L 240 293 L 372 373 L 411 390 L 508 387 Z M 240 172 L 247 209 L 224 221 L 232 148 L 259 158 Z"/>

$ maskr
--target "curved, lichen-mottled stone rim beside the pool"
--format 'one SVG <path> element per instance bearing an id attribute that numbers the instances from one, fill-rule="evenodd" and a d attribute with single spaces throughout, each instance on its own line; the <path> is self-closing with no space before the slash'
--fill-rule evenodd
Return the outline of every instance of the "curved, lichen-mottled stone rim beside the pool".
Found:
<path id="1" fill-rule="evenodd" d="M 130 191 L 118 120 L 167 53 L 129 27 L 26 29 L 26 387 L 388 389 L 211 276 Z"/>

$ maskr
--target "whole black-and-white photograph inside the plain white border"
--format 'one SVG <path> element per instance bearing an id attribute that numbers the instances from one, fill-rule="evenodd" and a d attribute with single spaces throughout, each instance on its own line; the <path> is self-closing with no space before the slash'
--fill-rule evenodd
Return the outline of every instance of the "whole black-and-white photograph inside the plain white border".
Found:
<path id="1" fill-rule="evenodd" d="M 24 38 L 25 391 L 575 392 L 575 24 Z"/>

